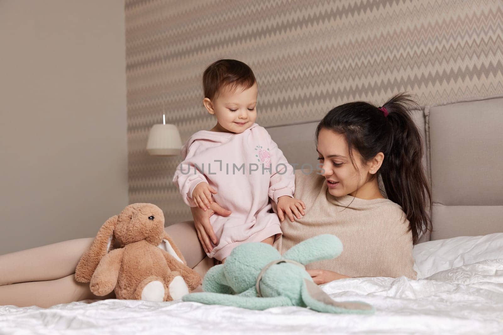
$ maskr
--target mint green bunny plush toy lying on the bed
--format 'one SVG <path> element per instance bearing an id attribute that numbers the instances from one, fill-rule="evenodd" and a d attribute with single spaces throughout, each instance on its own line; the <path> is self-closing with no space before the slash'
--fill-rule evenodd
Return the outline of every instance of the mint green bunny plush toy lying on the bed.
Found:
<path id="1" fill-rule="evenodd" d="M 373 313 L 374 308 L 364 302 L 333 300 L 305 270 L 306 264 L 336 258 L 342 249 L 341 241 L 329 234 L 305 240 L 283 257 L 268 244 L 245 243 L 232 250 L 224 264 L 208 271 L 205 292 L 187 294 L 182 300 L 259 310 L 301 306 L 327 313 Z"/>

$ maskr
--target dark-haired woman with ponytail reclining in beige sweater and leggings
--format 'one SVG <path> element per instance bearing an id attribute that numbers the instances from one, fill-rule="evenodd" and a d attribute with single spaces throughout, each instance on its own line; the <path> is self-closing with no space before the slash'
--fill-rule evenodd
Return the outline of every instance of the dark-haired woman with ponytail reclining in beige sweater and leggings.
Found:
<path id="1" fill-rule="evenodd" d="M 284 252 L 321 233 L 341 239 L 341 256 L 308 267 L 316 283 L 357 276 L 415 276 L 412 245 L 431 220 L 422 141 L 406 111 L 414 106 L 406 94 L 379 108 L 350 102 L 330 110 L 318 125 L 322 170 L 296 173 L 295 197 L 306 204 L 306 215 L 286 212 L 291 222 L 283 221 L 283 236 L 275 241 Z M 379 190 L 378 175 L 388 199 Z M 191 267 L 205 256 L 196 236 L 206 250 L 212 248 L 210 239 L 218 242 L 209 224 L 215 212 L 231 214 L 216 203 L 208 211 L 192 207 L 195 230 L 188 222 L 166 228 Z M 88 284 L 73 280 L 75 266 L 92 241 L 72 240 L 0 256 L 0 305 L 47 307 L 112 297 L 96 297 Z"/>

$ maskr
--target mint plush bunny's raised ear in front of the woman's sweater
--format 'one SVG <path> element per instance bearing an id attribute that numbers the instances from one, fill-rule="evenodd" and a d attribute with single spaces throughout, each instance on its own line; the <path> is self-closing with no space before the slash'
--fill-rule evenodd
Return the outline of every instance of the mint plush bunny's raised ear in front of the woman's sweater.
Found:
<path id="1" fill-rule="evenodd" d="M 343 252 L 343 244 L 335 235 L 323 234 L 302 241 L 288 249 L 283 258 L 297 261 L 303 265 L 336 258 Z"/>

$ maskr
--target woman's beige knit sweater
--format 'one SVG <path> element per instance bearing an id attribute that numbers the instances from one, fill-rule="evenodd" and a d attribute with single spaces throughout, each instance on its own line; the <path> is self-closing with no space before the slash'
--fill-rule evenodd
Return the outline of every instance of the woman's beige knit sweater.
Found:
<path id="1" fill-rule="evenodd" d="M 325 269 L 350 277 L 414 278 L 412 233 L 402 208 L 388 199 L 364 200 L 328 193 L 325 178 L 315 172 L 295 171 L 295 198 L 304 201 L 305 215 L 281 224 L 283 236 L 275 247 L 283 254 L 299 242 L 333 234 L 343 244 L 342 254 L 307 269 Z M 276 208 L 274 208 L 276 210 Z"/>

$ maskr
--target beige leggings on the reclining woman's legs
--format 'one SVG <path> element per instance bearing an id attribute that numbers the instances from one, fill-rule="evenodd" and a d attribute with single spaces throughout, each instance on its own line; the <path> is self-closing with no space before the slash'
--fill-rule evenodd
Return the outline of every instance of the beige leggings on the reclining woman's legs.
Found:
<path id="1" fill-rule="evenodd" d="M 201 275 L 212 265 L 199 243 L 194 223 L 185 221 L 166 227 L 184 255 L 187 265 Z M 95 296 L 89 283 L 78 283 L 73 274 L 80 256 L 93 238 L 70 240 L 0 256 L 0 305 L 49 307 Z M 204 262 L 203 262 L 204 259 Z"/>

